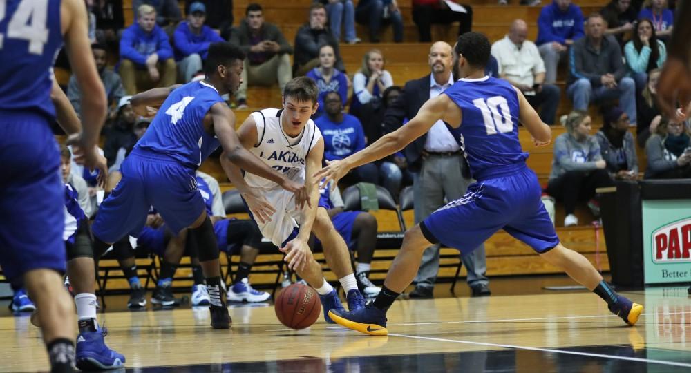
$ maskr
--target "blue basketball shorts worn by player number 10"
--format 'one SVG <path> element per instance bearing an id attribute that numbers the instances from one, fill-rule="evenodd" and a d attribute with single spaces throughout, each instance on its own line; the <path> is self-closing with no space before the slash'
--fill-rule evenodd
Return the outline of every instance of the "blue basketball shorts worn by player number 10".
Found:
<path id="1" fill-rule="evenodd" d="M 455 247 L 462 254 L 504 229 L 538 253 L 559 243 L 545 206 L 538 178 L 527 167 L 478 181 L 466 194 L 448 202 L 420 223 L 425 238 Z"/>

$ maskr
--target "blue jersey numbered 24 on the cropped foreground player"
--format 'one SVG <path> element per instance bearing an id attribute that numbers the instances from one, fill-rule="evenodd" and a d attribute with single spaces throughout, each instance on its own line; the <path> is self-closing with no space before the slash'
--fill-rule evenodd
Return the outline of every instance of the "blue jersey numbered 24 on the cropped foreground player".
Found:
<path id="1" fill-rule="evenodd" d="M 0 1 L 0 115 L 55 120 L 51 68 L 62 41 L 60 0 Z"/>

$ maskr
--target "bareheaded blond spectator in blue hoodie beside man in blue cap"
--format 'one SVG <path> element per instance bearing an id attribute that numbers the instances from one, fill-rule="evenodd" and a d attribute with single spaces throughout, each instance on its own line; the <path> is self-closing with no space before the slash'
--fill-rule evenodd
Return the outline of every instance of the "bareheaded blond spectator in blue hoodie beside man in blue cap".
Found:
<path id="1" fill-rule="evenodd" d="M 176 82 L 173 48 L 168 35 L 156 25 L 156 10 L 142 5 L 138 15 L 137 23 L 126 28 L 120 39 L 120 77 L 128 95 Z"/>

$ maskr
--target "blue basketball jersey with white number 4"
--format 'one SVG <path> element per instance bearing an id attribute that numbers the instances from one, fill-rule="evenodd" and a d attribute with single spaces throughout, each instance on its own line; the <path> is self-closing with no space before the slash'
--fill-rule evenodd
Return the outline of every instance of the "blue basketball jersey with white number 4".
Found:
<path id="1" fill-rule="evenodd" d="M 171 157 L 196 169 L 219 145 L 218 139 L 209 135 L 202 124 L 217 102 L 223 99 L 216 88 L 205 82 L 190 82 L 173 90 L 135 145 L 135 151 Z"/>

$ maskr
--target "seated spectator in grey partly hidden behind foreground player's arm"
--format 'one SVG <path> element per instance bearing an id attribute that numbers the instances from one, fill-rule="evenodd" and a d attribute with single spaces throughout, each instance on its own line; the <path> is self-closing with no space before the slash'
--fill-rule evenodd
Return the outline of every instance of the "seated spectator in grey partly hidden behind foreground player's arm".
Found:
<path id="1" fill-rule="evenodd" d="M 106 67 L 108 64 L 108 52 L 106 52 L 106 46 L 103 44 L 92 44 L 91 52 L 96 63 L 98 75 L 101 78 L 101 82 L 103 82 L 104 88 L 106 89 L 106 97 L 108 98 L 108 117 L 106 120 L 110 121 L 115 119 L 115 115 L 117 114 L 117 104 L 120 102 L 122 96 L 125 95 L 125 90 L 122 87 L 120 75 L 117 75 L 117 73 L 115 73 L 113 70 Z M 70 82 L 67 86 L 67 97 L 70 99 L 70 103 L 75 108 L 77 115 L 82 117 L 82 90 L 79 89 L 75 75 L 70 77 Z"/>

